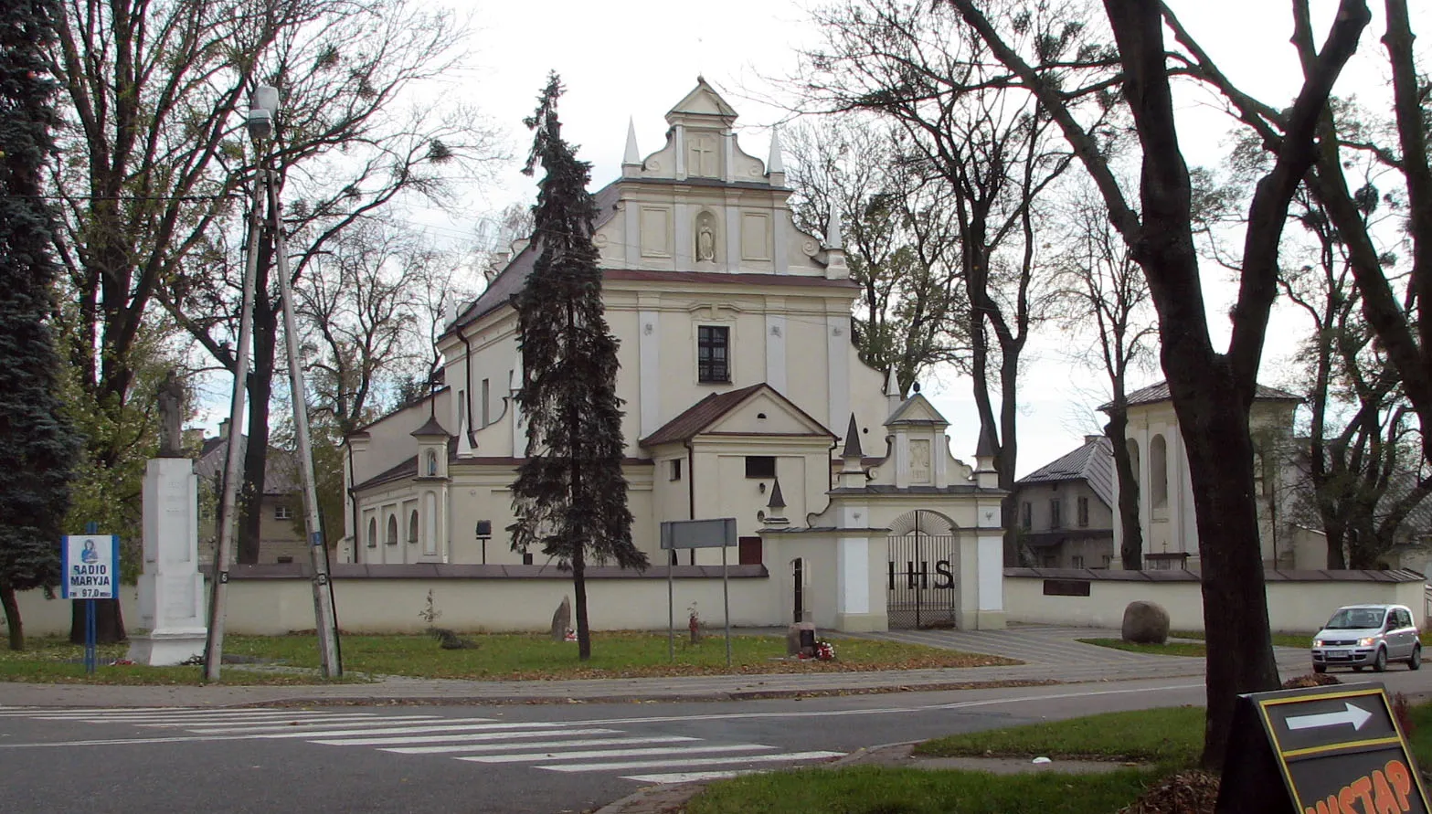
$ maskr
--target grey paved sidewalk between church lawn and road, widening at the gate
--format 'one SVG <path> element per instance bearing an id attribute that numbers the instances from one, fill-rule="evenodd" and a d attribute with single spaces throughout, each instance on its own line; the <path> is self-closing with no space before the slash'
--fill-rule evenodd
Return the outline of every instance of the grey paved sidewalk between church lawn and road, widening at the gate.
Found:
<path id="1" fill-rule="evenodd" d="M 232 707 L 245 704 L 513 704 L 599 701 L 712 701 L 808 694 L 959 690 L 1000 684 L 1050 684 L 1203 675 L 1203 659 L 1126 652 L 1077 642 L 1117 638 L 1118 631 L 1020 627 L 1008 631 L 892 631 L 874 638 L 912 641 L 1018 658 L 1014 667 L 875 672 L 695 675 L 563 681 L 457 681 L 384 677 L 369 684 L 295 687 L 117 687 L 0 684 L 7 707 Z M 1307 654 L 1277 648 L 1283 675 L 1307 672 Z"/>

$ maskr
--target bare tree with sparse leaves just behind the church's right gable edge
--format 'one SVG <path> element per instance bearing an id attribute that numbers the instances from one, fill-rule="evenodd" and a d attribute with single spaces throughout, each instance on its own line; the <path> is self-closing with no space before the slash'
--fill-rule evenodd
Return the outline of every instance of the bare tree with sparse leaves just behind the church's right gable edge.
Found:
<path id="1" fill-rule="evenodd" d="M 788 180 L 796 226 L 822 235 L 841 216 L 851 279 L 861 286 L 852 330 L 861 359 L 895 369 L 901 395 L 937 365 L 959 362 L 967 309 L 947 187 L 911 172 L 901 133 L 845 114 L 792 130 Z"/>

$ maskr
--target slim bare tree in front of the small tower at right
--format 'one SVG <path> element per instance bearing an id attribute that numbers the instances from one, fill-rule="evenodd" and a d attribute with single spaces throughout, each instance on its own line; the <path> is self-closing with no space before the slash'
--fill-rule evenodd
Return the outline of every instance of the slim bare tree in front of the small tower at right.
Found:
<path id="1" fill-rule="evenodd" d="M 1114 451 L 1118 478 L 1120 558 L 1130 571 L 1143 568 L 1143 528 L 1138 524 L 1138 478 L 1128 449 L 1128 373 L 1154 362 L 1158 329 L 1151 313 L 1148 282 L 1130 258 L 1124 239 L 1108 223 L 1098 193 L 1075 187 L 1061 213 L 1071 230 L 1068 253 L 1058 266 L 1058 296 L 1067 303 L 1065 329 L 1091 335 L 1093 359 L 1108 378 L 1104 433 Z"/>

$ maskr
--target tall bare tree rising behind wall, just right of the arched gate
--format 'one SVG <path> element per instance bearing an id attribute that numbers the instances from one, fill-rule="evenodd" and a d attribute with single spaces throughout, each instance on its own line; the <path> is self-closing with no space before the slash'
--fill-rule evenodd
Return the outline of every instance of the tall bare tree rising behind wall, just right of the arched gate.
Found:
<path id="1" fill-rule="evenodd" d="M 906 136 L 918 159 L 912 170 L 947 190 L 981 433 L 995 446 L 1000 486 L 1012 495 L 1020 362 L 1044 305 L 1037 200 L 1073 153 L 1048 103 L 1005 93 L 1004 69 L 990 67 L 984 41 L 948 7 L 849 0 L 816 13 L 816 21 L 826 43 L 805 54 L 795 80 L 806 104 L 885 116 Z M 1087 50 L 1083 27 L 1071 19 L 1031 17 L 1022 34 L 1051 60 Z M 1007 498 L 1005 516 L 1012 509 Z M 1005 564 L 1020 564 L 1012 528 Z"/>

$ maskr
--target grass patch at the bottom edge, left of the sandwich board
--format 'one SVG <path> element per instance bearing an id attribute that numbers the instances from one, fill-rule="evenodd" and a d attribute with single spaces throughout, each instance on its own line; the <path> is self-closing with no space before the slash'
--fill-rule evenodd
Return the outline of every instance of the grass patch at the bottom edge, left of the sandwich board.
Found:
<path id="1" fill-rule="evenodd" d="M 1151 777 L 1138 770 L 997 777 L 875 765 L 786 771 L 716 783 L 686 814 L 1113 814 Z"/>

